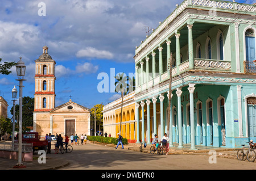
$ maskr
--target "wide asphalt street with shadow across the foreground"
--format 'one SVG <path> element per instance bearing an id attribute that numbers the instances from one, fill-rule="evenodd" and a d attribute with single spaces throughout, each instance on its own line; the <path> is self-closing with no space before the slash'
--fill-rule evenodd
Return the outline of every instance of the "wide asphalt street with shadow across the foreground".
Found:
<path id="1" fill-rule="evenodd" d="M 235 170 L 256 169 L 255 163 L 237 159 L 216 158 L 209 163 L 209 155 L 152 155 L 133 150 L 118 149 L 96 144 L 73 145 L 72 153 L 47 155 L 67 159 L 70 163 L 62 170 Z M 214 159 L 210 158 L 210 161 Z"/>

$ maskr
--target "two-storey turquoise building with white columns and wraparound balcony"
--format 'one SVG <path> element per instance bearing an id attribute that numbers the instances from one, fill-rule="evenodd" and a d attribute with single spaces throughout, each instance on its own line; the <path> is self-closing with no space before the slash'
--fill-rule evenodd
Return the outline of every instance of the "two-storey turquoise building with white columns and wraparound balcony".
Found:
<path id="1" fill-rule="evenodd" d="M 255 33 L 255 5 L 177 5 L 135 50 L 137 142 L 168 131 L 169 99 L 170 147 L 240 148 L 256 141 Z"/>

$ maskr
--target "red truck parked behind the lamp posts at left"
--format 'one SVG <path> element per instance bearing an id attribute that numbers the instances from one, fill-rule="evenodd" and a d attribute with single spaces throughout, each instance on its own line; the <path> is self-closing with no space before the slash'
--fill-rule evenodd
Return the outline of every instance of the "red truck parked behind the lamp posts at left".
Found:
<path id="1" fill-rule="evenodd" d="M 15 140 L 18 142 L 18 140 Z M 24 143 L 32 143 L 33 144 L 33 152 L 35 150 L 47 150 L 48 141 L 40 140 L 38 136 L 38 132 L 26 132 L 22 134 L 22 142 Z"/>

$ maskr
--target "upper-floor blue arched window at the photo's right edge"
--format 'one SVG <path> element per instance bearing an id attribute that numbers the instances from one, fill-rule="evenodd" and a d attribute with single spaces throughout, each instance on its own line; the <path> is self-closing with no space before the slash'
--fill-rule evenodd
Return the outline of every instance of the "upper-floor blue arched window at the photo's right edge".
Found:
<path id="1" fill-rule="evenodd" d="M 255 60 L 255 34 L 252 29 L 245 32 L 246 60 Z"/>

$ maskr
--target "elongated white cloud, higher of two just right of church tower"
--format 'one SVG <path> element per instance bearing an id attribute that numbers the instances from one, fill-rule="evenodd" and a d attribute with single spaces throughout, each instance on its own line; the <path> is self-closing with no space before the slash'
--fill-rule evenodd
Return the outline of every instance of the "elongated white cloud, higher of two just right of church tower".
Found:
<path id="1" fill-rule="evenodd" d="M 112 59 L 114 56 L 111 52 L 106 50 L 97 50 L 93 47 L 87 47 L 85 49 L 81 49 L 76 53 L 76 56 L 81 57 L 89 57 L 89 58 L 106 58 Z"/>

